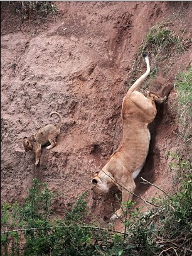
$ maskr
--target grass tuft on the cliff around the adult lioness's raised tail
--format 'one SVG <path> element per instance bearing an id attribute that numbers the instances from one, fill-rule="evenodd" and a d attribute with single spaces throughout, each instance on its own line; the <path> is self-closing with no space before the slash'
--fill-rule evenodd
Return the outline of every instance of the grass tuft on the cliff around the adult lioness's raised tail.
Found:
<path id="1" fill-rule="evenodd" d="M 151 65 L 151 72 L 148 79 L 141 88 L 144 92 L 150 86 L 152 79 L 154 79 L 161 70 L 161 73 L 168 74 L 171 69 L 172 59 L 176 54 L 181 54 L 185 50 L 183 42 L 179 35 L 173 30 L 164 27 L 164 24 L 153 26 L 146 33 L 146 37 L 139 47 L 136 58 L 132 64 L 131 70 L 127 74 L 125 84 L 131 87 L 141 74 L 144 61 L 142 60 L 142 53 L 146 52 L 149 55 L 149 62 Z"/>

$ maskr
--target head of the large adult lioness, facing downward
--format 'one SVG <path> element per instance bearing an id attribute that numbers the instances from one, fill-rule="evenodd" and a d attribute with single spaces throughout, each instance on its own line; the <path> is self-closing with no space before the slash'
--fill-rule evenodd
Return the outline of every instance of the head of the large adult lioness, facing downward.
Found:
<path id="1" fill-rule="evenodd" d="M 92 198 L 101 199 L 109 191 L 109 184 L 106 179 L 100 179 L 98 173 L 92 174 Z"/>

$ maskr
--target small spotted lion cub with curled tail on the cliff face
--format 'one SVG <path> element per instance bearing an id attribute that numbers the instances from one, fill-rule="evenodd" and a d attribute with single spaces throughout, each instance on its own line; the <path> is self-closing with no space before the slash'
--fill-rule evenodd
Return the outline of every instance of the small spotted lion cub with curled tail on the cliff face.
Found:
<path id="1" fill-rule="evenodd" d="M 63 123 L 63 118 L 61 114 L 52 111 L 50 117 L 53 114 L 57 114 L 60 121 L 57 125 L 45 125 L 40 128 L 40 130 L 33 133 L 29 138 L 24 136 L 23 138 L 23 146 L 24 150 L 28 152 L 29 150 L 33 150 L 35 152 L 35 165 L 38 165 L 40 162 L 41 156 L 41 146 L 46 145 L 46 143 L 50 142 L 51 145 L 46 147 L 47 149 L 51 149 L 56 146 L 56 136 L 60 134 L 60 127 Z"/>

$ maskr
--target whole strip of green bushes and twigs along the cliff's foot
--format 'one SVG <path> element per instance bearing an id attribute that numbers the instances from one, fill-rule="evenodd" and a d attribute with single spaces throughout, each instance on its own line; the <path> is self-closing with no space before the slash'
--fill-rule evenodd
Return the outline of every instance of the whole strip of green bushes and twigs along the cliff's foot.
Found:
<path id="1" fill-rule="evenodd" d="M 187 166 L 179 191 L 158 207 L 141 214 L 127 202 L 122 233 L 83 223 L 86 194 L 57 218 L 54 195 L 34 179 L 23 205 L 3 204 L 1 255 L 191 255 L 192 169 Z"/>

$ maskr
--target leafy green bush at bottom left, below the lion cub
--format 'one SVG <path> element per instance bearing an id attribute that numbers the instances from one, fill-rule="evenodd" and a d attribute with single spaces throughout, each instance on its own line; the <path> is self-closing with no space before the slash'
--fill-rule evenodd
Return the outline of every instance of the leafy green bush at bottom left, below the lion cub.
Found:
<path id="1" fill-rule="evenodd" d="M 5 202 L 2 206 L 1 255 L 104 255 L 108 247 L 117 252 L 119 247 L 108 230 L 98 232 L 99 228 L 83 223 L 85 196 L 60 219 L 52 209 L 54 194 L 34 179 L 24 204 Z"/>

